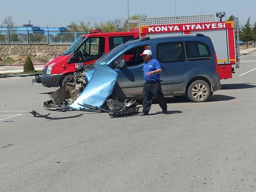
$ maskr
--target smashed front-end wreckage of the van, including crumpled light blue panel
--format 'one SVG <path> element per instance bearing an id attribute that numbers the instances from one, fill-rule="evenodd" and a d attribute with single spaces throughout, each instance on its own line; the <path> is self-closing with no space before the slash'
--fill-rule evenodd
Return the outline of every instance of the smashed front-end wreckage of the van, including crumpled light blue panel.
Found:
<path id="1" fill-rule="evenodd" d="M 116 79 L 117 73 L 109 66 L 81 67 L 65 78 L 65 86 L 49 94 L 51 100 L 44 102 L 44 107 L 51 111 L 108 112 L 111 118 L 135 115 L 140 108 L 136 101 L 113 98 Z"/>

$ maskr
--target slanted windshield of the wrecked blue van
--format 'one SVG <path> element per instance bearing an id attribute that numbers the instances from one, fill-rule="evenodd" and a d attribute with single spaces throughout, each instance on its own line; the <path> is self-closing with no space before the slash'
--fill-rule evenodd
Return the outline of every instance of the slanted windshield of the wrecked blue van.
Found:
<path id="1" fill-rule="evenodd" d="M 97 62 L 95 62 L 96 65 L 109 65 L 109 61 L 118 55 L 121 51 L 126 49 L 128 47 L 127 44 L 121 44 L 118 45 L 117 47 L 113 48 L 111 51 L 106 53 L 106 55 L 102 56 Z"/>

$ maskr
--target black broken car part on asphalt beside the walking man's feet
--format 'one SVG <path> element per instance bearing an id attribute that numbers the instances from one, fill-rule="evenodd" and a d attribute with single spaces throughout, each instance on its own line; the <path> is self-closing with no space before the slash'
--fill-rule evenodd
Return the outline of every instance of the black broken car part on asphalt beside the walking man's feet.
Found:
<path id="1" fill-rule="evenodd" d="M 137 114 L 140 107 L 137 107 L 136 101 L 129 101 L 126 99 L 124 102 L 120 102 L 118 99 L 108 99 L 107 105 L 110 109 L 110 118 L 130 116 Z"/>

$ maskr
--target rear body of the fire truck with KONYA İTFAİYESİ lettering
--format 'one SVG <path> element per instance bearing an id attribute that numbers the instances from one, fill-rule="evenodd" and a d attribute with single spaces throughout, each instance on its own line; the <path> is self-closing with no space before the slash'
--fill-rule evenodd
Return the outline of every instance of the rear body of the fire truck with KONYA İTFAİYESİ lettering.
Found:
<path id="1" fill-rule="evenodd" d="M 141 18 L 132 28 L 141 37 L 200 33 L 211 38 L 217 55 L 220 79 L 232 78 L 240 67 L 238 18 L 214 21 L 214 15 Z"/>

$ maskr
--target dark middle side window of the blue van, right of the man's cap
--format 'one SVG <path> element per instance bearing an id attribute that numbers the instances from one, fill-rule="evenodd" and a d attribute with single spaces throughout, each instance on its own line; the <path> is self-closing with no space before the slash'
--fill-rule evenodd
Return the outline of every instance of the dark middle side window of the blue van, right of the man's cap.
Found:
<path id="1" fill-rule="evenodd" d="M 183 42 L 159 43 L 157 45 L 157 60 L 161 63 L 186 61 Z"/>

